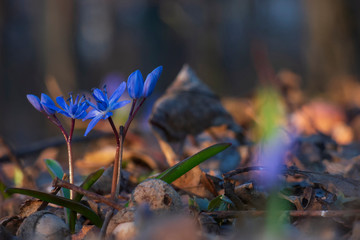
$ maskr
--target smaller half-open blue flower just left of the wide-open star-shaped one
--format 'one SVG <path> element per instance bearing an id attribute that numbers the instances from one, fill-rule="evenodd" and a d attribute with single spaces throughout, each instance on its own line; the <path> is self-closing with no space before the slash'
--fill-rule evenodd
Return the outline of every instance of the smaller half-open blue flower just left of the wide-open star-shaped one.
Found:
<path id="1" fill-rule="evenodd" d="M 84 97 L 79 100 L 79 95 L 77 95 L 74 102 L 73 96 L 70 94 L 68 105 L 64 97 L 57 97 L 56 102 L 62 107 L 62 109 L 58 109 L 58 112 L 72 119 L 83 119 L 87 115 L 86 109 L 89 107 L 87 102 L 83 100 Z"/>

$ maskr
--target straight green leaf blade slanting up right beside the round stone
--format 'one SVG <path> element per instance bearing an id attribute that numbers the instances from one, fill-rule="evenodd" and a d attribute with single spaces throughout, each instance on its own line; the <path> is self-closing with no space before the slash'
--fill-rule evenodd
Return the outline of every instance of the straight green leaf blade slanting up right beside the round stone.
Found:
<path id="1" fill-rule="evenodd" d="M 188 157 L 187 159 L 175 164 L 163 173 L 159 174 L 156 178 L 161 179 L 167 183 L 172 183 L 200 163 L 215 156 L 219 152 L 224 151 L 231 146 L 231 143 L 218 143 L 214 144 L 204 150 Z"/>

